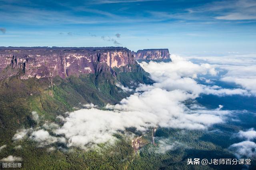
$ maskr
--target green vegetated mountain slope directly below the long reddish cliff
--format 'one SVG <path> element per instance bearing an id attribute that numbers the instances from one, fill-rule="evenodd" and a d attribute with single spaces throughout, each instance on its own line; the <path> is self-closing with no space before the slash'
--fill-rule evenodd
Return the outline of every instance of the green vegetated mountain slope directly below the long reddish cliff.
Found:
<path id="1" fill-rule="evenodd" d="M 102 71 L 95 74 L 59 76 L 50 78 L 19 79 L 19 74 L 0 81 L 0 145 L 10 141 L 18 128 L 31 127 L 34 121 L 31 112 L 36 111 L 46 120 L 53 121 L 56 115 L 82 108 L 93 103 L 102 108 L 107 103 L 116 104 L 130 92 L 123 91 L 115 84 L 126 82 L 152 83 L 152 80 L 139 65 L 131 65 L 131 72 L 116 71 L 116 76 Z M 20 73 L 22 74 L 22 73 Z"/>

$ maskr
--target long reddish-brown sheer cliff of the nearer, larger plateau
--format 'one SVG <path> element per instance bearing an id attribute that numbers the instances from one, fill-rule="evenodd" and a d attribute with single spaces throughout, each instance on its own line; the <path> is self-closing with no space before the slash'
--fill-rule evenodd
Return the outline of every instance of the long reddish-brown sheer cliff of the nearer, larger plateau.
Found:
<path id="1" fill-rule="evenodd" d="M 113 67 L 134 64 L 134 53 L 122 47 L 2 47 L 0 71 L 9 66 L 29 77 L 64 78 L 70 75 L 112 71 Z M 9 70 L 6 70 L 7 72 Z M 12 71 L 9 71 L 11 75 Z"/>

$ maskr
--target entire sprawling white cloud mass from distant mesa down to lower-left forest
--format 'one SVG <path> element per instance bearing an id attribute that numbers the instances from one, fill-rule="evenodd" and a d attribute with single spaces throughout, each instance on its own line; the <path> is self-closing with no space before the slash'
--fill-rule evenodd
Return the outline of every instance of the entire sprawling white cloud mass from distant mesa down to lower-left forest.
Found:
<path id="1" fill-rule="evenodd" d="M 193 101 L 202 93 L 219 96 L 249 95 L 246 89 L 224 89 L 214 84 L 200 84 L 198 76 L 218 75 L 214 65 L 195 64 L 175 55 L 172 60 L 169 63 L 140 63 L 156 83 L 140 84 L 134 94 L 122 99 L 119 104 L 108 104 L 105 110 L 87 104 L 84 105 L 87 109 L 67 113 L 66 117 L 58 116 L 62 125 L 47 122 L 42 127 L 19 130 L 13 139 L 28 137 L 39 142 L 39 146 L 61 142 L 67 147 L 90 148 L 100 143 L 112 144 L 116 140 L 113 134 L 126 134 L 126 128 L 129 127 L 142 132 L 158 126 L 206 130 L 214 124 L 224 123 L 232 111 L 223 110 L 225 107 L 222 103 L 216 109 L 207 109 L 195 103 L 185 105 L 185 101 Z M 128 87 L 116 85 L 124 91 L 130 91 Z M 174 147 L 169 145 L 165 150 Z"/>

